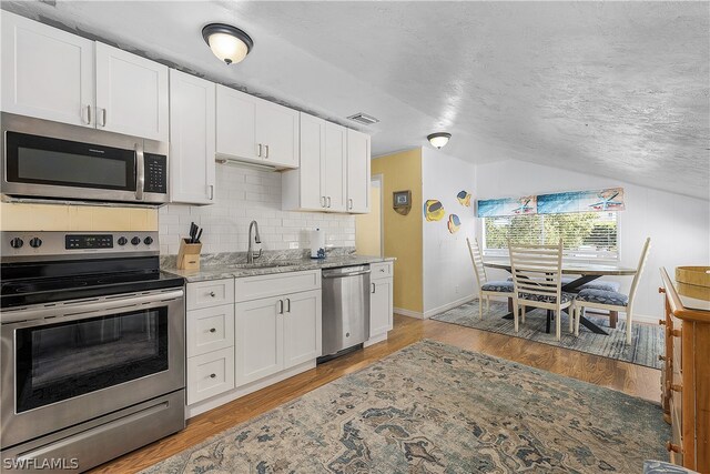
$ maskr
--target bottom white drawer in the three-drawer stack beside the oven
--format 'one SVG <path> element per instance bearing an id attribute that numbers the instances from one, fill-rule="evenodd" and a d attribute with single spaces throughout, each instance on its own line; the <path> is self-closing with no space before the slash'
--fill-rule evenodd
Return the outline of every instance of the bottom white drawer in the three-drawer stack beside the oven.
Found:
<path id="1" fill-rule="evenodd" d="M 187 359 L 187 405 L 234 389 L 234 347 Z"/>

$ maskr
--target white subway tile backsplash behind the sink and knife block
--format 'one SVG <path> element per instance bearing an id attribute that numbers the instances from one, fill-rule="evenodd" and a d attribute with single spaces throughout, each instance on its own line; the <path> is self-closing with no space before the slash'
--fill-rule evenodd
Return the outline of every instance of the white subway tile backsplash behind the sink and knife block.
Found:
<path id="1" fill-rule="evenodd" d="M 217 164 L 216 203 L 170 204 L 159 214 L 161 254 L 176 254 L 190 222 L 204 228 L 203 253 L 241 252 L 248 245 L 248 224 L 258 222 L 264 250 L 308 248 L 307 230 L 325 231 L 326 246 L 355 246 L 355 218 L 281 210 L 281 173 Z"/>

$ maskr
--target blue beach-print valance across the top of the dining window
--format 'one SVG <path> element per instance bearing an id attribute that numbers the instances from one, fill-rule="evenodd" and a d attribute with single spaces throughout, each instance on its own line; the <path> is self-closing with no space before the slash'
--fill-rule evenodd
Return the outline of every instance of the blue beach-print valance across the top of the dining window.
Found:
<path id="1" fill-rule="evenodd" d="M 478 218 L 623 211 L 625 209 L 623 188 L 538 194 L 519 199 L 487 199 L 476 202 Z"/>

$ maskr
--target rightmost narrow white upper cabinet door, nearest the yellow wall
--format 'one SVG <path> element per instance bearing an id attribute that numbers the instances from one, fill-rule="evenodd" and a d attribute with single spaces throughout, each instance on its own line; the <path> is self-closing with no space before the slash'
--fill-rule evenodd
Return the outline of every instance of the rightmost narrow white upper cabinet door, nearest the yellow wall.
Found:
<path id="1" fill-rule="evenodd" d="M 347 131 L 347 211 L 369 212 L 369 135 Z"/>

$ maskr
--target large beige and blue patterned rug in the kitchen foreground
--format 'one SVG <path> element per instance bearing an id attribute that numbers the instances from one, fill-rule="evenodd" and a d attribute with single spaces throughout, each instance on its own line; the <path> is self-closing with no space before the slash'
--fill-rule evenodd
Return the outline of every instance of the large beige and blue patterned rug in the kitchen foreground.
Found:
<path id="1" fill-rule="evenodd" d="M 638 473 L 660 406 L 423 341 L 144 473 Z"/>

